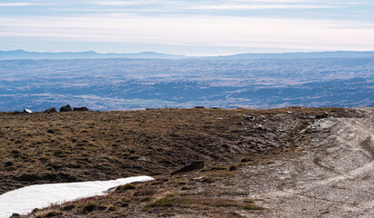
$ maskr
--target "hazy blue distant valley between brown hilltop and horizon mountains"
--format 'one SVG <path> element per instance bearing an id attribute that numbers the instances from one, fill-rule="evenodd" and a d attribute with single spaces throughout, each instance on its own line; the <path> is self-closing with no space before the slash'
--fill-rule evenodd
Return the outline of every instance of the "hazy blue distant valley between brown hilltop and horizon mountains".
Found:
<path id="1" fill-rule="evenodd" d="M 373 57 L 0 61 L 0 111 L 373 106 Z"/>

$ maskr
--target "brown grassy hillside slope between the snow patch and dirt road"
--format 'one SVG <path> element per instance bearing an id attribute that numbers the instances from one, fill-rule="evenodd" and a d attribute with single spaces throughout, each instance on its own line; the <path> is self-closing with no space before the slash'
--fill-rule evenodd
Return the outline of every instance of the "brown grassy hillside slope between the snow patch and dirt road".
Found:
<path id="1" fill-rule="evenodd" d="M 31 183 L 147 174 L 156 181 L 124 186 L 105 197 L 57 205 L 30 216 L 271 217 L 275 209 L 284 215 L 287 211 L 277 208 L 279 197 L 271 198 L 271 193 L 284 196 L 283 186 L 295 182 L 284 180 L 290 170 L 279 176 L 279 166 L 290 166 L 292 158 L 303 160 L 302 155 L 314 149 L 315 138 L 330 133 L 330 126 L 315 127 L 319 122 L 367 121 L 368 114 L 356 109 L 301 107 L 3 113 L 1 193 Z M 205 162 L 204 169 L 170 175 L 196 160 Z M 305 169 L 307 163 L 295 162 L 290 168 Z M 308 179 L 305 176 L 301 182 Z M 92 205 L 87 207 L 90 210 L 87 205 Z"/>

